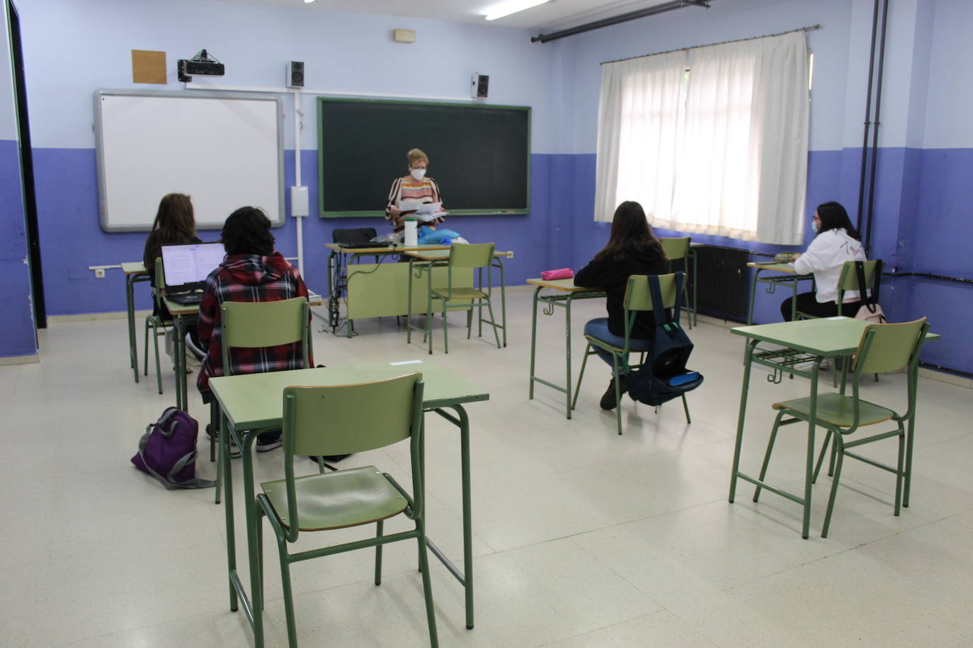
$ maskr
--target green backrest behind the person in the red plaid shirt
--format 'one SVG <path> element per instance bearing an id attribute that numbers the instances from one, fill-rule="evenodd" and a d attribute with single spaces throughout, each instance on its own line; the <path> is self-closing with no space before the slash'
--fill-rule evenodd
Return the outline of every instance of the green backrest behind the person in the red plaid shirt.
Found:
<path id="1" fill-rule="evenodd" d="M 225 301 L 221 308 L 223 370 L 231 374 L 230 349 L 263 349 L 301 343 L 304 365 L 308 360 L 306 297 L 279 301 Z"/>

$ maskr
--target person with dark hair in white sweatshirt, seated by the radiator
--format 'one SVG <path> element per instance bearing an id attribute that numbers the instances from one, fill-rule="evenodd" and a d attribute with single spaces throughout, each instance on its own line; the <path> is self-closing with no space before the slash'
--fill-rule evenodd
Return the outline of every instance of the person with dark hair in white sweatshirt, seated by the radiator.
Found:
<path id="1" fill-rule="evenodd" d="M 826 202 L 817 206 L 813 217 L 814 231 L 817 235 L 808 246 L 807 252 L 794 257 L 794 270 L 798 274 L 814 273 L 816 292 L 802 292 L 797 295 L 797 310 L 815 317 L 832 317 L 838 309 L 838 279 L 842 274 L 845 261 L 864 261 L 865 250 L 861 236 L 851 226 L 845 208 L 837 202 Z M 780 315 L 784 322 L 791 319 L 791 300 L 784 299 L 780 304 Z M 856 290 L 845 292 L 842 314 L 853 318 L 861 307 L 861 297 Z"/>

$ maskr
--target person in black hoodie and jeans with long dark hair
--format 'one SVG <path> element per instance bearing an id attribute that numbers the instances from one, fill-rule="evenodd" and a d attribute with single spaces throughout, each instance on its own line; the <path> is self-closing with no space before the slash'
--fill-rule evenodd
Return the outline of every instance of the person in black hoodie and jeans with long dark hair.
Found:
<path id="1" fill-rule="evenodd" d="M 608 299 L 607 318 L 597 318 L 585 324 L 585 334 L 593 335 L 619 347 L 625 345 L 625 288 L 631 275 L 666 274 L 666 254 L 662 243 L 652 233 L 642 206 L 626 201 L 615 210 L 611 222 L 608 243 L 595 255 L 591 263 L 574 277 L 576 286 L 598 288 L 605 291 Z M 654 330 L 652 313 L 640 312 L 631 329 L 629 348 L 632 351 L 648 350 Z M 611 354 L 598 352 L 598 357 L 612 365 Z M 624 367 L 622 368 L 624 371 Z M 620 376 L 622 392 L 626 391 L 625 375 Z M 601 396 L 601 409 L 615 409 L 615 378 L 608 383 L 608 390 Z"/>

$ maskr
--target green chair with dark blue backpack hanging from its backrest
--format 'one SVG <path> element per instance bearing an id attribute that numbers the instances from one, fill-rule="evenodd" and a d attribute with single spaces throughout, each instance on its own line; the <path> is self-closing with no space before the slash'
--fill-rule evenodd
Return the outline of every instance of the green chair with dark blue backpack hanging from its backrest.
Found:
<path id="1" fill-rule="evenodd" d="M 675 275 L 659 275 L 659 288 L 662 290 L 663 303 L 666 308 L 675 306 L 676 282 Z M 652 294 L 649 292 L 649 280 L 647 275 L 631 275 L 629 283 L 625 287 L 625 345 L 617 347 L 613 344 L 596 338 L 594 335 L 585 335 L 588 346 L 585 348 L 585 358 L 581 361 L 581 373 L 578 374 L 578 385 L 574 389 L 574 398 L 571 400 L 571 409 L 575 409 L 578 403 L 578 392 L 581 392 L 581 381 L 585 377 L 585 366 L 588 364 L 589 356 L 598 353 L 598 350 L 607 351 L 612 357 L 612 376 L 615 379 L 615 422 L 618 426 L 618 433 L 622 433 L 622 388 L 619 381 L 620 369 L 624 368 L 624 373 L 631 373 L 632 369 L 637 369 L 645 361 L 645 354 L 652 349 L 651 340 L 631 337 L 631 329 L 635 325 L 635 316 L 640 311 L 652 310 Z M 637 363 L 629 362 L 629 354 L 641 354 Z M 689 418 L 689 404 L 686 402 L 686 394 L 682 394 L 682 406 L 686 411 L 686 423 L 692 423 Z"/>

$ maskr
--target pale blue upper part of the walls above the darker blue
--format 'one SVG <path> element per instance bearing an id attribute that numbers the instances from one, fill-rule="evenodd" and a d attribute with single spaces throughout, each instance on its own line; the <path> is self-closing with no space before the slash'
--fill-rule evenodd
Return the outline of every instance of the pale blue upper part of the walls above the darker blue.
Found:
<path id="1" fill-rule="evenodd" d="M 602 61 L 816 23 L 822 28 L 808 32 L 811 150 L 860 147 L 873 5 L 713 0 L 710 9 L 687 7 L 542 45 L 530 43 L 525 29 L 300 7 L 18 0 L 36 147 L 93 148 L 94 89 L 181 89 L 176 60 L 206 48 L 226 64 L 227 75 L 196 81 L 216 85 L 279 87 L 286 62 L 305 61 L 305 149 L 317 147 L 315 90 L 465 97 L 470 76 L 481 73 L 490 76 L 489 103 L 533 108 L 534 153 L 595 153 Z M 897 0 L 890 12 L 880 145 L 973 147 L 973 122 L 966 119 L 973 105 L 966 66 L 973 59 L 973 1 Z M 393 43 L 394 28 L 414 29 L 417 42 Z M 165 51 L 169 84 L 133 85 L 133 49 Z M 0 118 L 12 110 L 7 103 L 0 101 Z M 293 148 L 289 101 L 285 111 L 285 145 Z"/>

